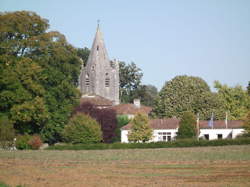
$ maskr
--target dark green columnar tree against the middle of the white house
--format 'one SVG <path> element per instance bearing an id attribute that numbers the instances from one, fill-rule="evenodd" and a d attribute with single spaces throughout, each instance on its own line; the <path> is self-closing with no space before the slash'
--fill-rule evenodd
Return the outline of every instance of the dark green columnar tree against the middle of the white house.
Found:
<path id="1" fill-rule="evenodd" d="M 177 138 L 194 138 L 196 136 L 196 119 L 192 112 L 184 112 L 180 120 Z"/>

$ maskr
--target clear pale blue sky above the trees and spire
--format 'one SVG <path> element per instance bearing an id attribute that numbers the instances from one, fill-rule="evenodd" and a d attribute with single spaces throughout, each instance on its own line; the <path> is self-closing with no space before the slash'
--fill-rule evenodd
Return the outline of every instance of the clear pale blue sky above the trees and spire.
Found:
<path id="1" fill-rule="evenodd" d="M 159 89 L 176 75 L 244 87 L 250 81 L 249 0 L 0 0 L 31 10 L 75 47 L 88 47 L 97 20 L 111 59 L 134 61 Z"/>

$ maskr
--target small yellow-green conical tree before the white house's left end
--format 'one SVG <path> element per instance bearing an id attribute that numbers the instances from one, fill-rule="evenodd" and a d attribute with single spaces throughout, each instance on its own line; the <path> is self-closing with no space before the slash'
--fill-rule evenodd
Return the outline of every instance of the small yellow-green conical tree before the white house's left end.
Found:
<path id="1" fill-rule="evenodd" d="M 152 138 L 153 130 L 149 126 L 148 117 L 145 114 L 137 114 L 132 120 L 131 132 L 128 134 L 130 142 L 146 142 Z"/>

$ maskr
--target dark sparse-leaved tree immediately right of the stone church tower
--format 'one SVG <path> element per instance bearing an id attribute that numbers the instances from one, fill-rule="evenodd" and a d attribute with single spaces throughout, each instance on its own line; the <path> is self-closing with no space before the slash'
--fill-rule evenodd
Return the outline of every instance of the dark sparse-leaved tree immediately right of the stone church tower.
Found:
<path id="1" fill-rule="evenodd" d="M 130 103 L 141 84 L 143 73 L 134 62 L 126 64 L 119 62 L 120 76 L 120 100 L 122 103 Z"/>

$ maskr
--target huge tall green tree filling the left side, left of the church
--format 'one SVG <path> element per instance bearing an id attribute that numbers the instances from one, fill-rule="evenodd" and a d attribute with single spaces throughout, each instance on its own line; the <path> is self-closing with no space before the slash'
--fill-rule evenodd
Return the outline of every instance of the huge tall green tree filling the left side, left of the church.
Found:
<path id="1" fill-rule="evenodd" d="M 0 110 L 19 133 L 41 133 L 49 143 L 76 106 L 81 60 L 65 37 L 34 12 L 0 15 Z"/>

